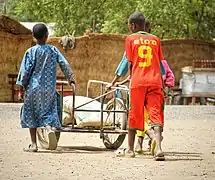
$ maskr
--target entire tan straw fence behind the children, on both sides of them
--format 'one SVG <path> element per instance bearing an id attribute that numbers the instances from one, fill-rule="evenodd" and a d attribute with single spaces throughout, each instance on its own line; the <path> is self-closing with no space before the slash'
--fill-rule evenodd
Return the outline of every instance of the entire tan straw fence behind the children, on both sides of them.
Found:
<path id="1" fill-rule="evenodd" d="M 18 73 L 24 51 L 31 47 L 30 32 L 24 34 L 7 32 L 1 28 L 0 19 L 0 101 L 11 101 L 11 90 L 7 74 Z M 17 23 L 17 22 L 14 22 Z M 21 26 L 21 25 L 19 25 Z M 23 27 L 22 27 L 23 28 Z M 20 29 L 20 28 L 16 28 Z M 27 32 L 27 33 L 26 33 Z M 125 35 L 90 34 L 76 38 L 75 48 L 64 52 L 59 44 L 60 38 L 49 38 L 48 43 L 55 45 L 71 64 L 77 81 L 77 94 L 86 95 L 89 79 L 111 81 L 124 51 Z M 197 40 L 164 40 L 163 54 L 180 79 L 182 67 L 192 65 L 196 59 L 215 59 L 215 43 Z M 60 71 L 58 71 L 59 74 Z"/>

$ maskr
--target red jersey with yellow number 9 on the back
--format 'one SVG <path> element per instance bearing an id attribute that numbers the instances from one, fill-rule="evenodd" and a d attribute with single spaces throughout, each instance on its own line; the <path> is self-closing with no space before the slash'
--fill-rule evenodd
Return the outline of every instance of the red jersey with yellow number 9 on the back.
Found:
<path id="1" fill-rule="evenodd" d="M 162 87 L 160 61 L 163 55 L 159 38 L 146 32 L 131 34 L 126 38 L 125 50 L 131 63 L 130 87 Z"/>

